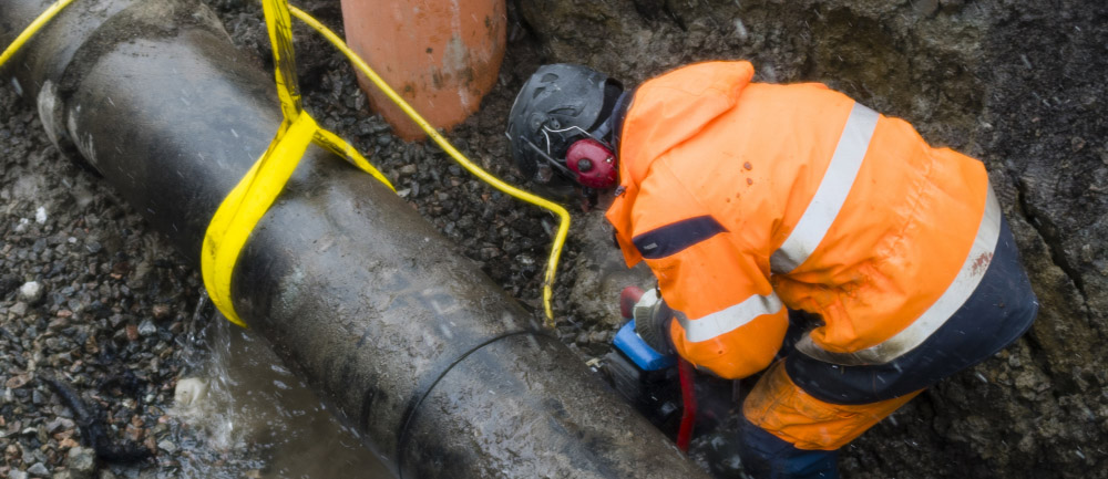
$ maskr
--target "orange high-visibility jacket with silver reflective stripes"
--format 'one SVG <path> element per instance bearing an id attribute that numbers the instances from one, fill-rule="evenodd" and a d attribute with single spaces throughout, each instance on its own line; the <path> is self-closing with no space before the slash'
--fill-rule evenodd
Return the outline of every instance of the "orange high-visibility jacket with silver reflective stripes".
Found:
<path id="1" fill-rule="evenodd" d="M 607 211 L 624 257 L 654 270 L 681 356 L 722 377 L 770 363 L 786 306 L 824 322 L 800 351 L 892 361 L 985 272 L 1001 212 L 984 165 L 822 84 L 752 75 L 700 63 L 636 91 Z"/>

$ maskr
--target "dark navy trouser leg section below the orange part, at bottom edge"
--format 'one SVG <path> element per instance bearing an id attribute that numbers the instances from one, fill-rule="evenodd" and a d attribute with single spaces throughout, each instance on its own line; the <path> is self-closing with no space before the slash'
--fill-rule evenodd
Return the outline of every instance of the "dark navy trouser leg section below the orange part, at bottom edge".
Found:
<path id="1" fill-rule="evenodd" d="M 742 469 L 762 479 L 839 477 L 838 450 L 803 450 L 755 426 L 745 418 L 739 427 Z"/>

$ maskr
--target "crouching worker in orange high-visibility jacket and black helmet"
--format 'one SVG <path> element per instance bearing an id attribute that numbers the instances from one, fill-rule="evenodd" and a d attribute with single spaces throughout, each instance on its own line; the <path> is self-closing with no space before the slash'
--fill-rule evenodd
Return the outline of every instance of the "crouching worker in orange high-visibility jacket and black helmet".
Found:
<path id="1" fill-rule="evenodd" d="M 724 378 L 761 373 L 747 472 L 833 478 L 838 449 L 1013 343 L 1038 303 L 981 162 L 822 84 L 753 74 L 706 62 L 624 88 L 545 65 L 507 136 L 529 180 L 611 201 L 663 300 L 636 314 L 644 340 Z M 817 320 L 794 342 L 790 310 Z"/>

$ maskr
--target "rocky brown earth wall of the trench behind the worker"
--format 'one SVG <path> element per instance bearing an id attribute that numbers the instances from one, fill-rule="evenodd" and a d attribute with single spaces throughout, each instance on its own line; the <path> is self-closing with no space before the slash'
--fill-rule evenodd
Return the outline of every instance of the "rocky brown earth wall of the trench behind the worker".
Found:
<path id="1" fill-rule="evenodd" d="M 633 80 L 750 59 L 762 81 L 824 82 L 982 158 L 1039 319 L 849 446 L 841 466 L 851 477 L 1108 475 L 1102 3 L 567 0 L 520 11 L 548 58 Z"/>

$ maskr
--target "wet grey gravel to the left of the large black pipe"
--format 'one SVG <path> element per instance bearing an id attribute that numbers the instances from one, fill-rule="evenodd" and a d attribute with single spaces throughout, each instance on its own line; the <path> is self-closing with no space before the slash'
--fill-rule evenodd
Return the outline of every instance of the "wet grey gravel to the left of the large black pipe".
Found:
<path id="1" fill-rule="evenodd" d="M 176 448 L 165 412 L 199 278 L 10 88 L 0 111 L 0 477 L 111 478 L 94 440 Z"/>

